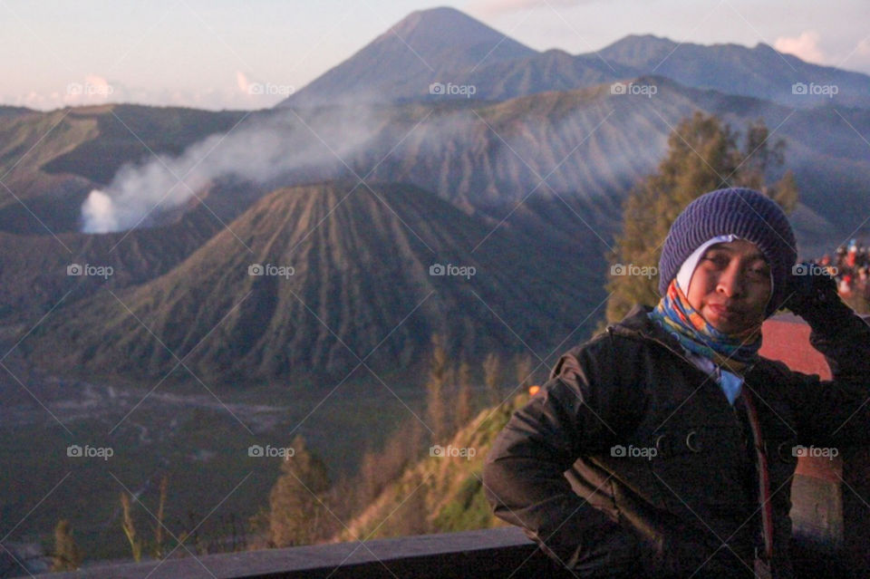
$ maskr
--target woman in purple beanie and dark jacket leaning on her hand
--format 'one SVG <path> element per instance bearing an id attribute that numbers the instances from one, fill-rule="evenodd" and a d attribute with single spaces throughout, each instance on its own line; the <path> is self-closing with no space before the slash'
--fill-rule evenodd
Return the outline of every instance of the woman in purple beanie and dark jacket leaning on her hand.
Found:
<path id="1" fill-rule="evenodd" d="M 870 437 L 870 326 L 795 266 L 776 203 L 694 200 L 662 248 L 655 308 L 566 352 L 484 467 L 497 516 L 580 577 L 792 576 L 789 487 L 804 447 Z M 788 307 L 834 380 L 760 358 Z"/>

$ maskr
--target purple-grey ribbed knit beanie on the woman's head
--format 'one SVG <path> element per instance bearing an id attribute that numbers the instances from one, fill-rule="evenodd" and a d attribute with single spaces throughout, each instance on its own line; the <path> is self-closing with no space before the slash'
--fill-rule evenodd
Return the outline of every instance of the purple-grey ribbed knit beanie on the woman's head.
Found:
<path id="1" fill-rule="evenodd" d="M 692 201 L 674 220 L 659 260 L 659 293 L 667 293 L 682 262 L 708 239 L 734 234 L 751 241 L 764 254 L 773 277 L 773 293 L 765 315 L 785 299 L 791 268 L 797 261 L 795 234 L 777 203 L 748 188 L 718 189 Z"/>

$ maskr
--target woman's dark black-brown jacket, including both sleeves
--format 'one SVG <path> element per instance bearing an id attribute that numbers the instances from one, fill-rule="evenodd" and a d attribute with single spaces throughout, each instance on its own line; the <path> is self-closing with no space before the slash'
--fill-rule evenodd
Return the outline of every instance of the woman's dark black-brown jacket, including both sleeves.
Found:
<path id="1" fill-rule="evenodd" d="M 649 311 L 559 359 L 498 435 L 488 500 L 578 576 L 752 577 L 763 538 L 745 401 L 730 406 Z M 805 317 L 834 380 L 762 358 L 743 384 L 768 460 L 774 577 L 792 574 L 793 449 L 870 439 L 870 326 L 839 301 Z"/>

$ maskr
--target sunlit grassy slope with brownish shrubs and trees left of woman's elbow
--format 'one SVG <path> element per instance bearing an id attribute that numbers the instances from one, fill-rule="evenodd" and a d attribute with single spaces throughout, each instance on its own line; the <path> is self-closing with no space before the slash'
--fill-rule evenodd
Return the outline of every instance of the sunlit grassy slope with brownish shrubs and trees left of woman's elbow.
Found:
<path id="1" fill-rule="evenodd" d="M 282 465 L 269 508 L 252 519 L 260 536 L 255 548 L 499 525 L 483 493 L 481 469 L 495 436 L 528 400 L 523 384 L 533 380 L 531 363 L 516 359 L 519 386 L 505 397 L 503 388 L 472 388 L 469 363 L 451 364 L 439 335 L 432 346 L 424 418 L 402 422 L 381 449 L 365 453 L 355 475 L 327 490 L 323 463 L 295 439 L 295 455 Z M 490 379 L 501 364 L 487 358 Z"/>

